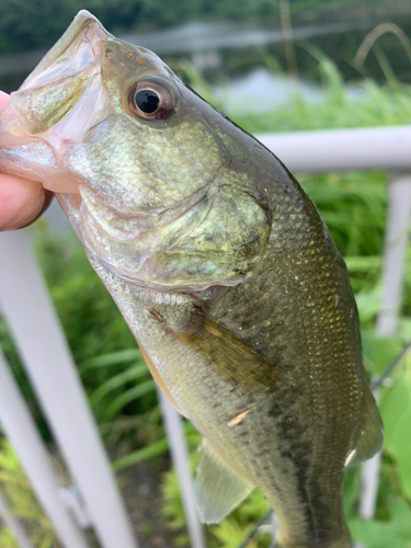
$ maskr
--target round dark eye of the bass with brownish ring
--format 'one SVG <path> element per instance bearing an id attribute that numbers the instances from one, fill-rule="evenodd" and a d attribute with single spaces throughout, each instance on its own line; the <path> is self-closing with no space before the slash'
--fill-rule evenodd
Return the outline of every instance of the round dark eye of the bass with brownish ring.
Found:
<path id="1" fill-rule="evenodd" d="M 144 119 L 165 119 L 174 112 L 174 96 L 162 82 L 141 80 L 132 87 L 128 105 Z"/>

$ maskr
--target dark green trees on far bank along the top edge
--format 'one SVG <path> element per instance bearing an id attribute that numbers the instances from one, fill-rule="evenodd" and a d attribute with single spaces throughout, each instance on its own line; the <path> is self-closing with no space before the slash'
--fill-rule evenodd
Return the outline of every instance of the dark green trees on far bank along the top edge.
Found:
<path id="1" fill-rule="evenodd" d="M 362 0 L 383 2 L 384 0 Z M 387 0 L 385 0 L 387 1 Z M 290 10 L 323 10 L 352 5 L 353 0 L 292 0 Z M 0 3 L 0 53 L 50 47 L 70 24 L 75 14 L 89 10 L 111 32 L 153 30 L 191 21 L 249 21 L 278 26 L 278 0 L 2 0 Z"/>

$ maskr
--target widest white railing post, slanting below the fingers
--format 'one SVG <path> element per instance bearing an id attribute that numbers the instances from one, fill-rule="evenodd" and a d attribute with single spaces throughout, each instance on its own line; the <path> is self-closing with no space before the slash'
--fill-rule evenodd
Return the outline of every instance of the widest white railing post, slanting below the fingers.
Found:
<path id="1" fill-rule="evenodd" d="M 136 548 L 132 525 L 27 235 L 0 235 L 0 256 L 2 310 L 99 541 L 104 548 Z"/>

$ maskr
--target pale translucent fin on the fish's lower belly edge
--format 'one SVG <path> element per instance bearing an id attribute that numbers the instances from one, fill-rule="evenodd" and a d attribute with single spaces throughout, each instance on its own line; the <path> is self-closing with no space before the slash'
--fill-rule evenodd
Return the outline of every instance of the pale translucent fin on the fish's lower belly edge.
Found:
<path id="1" fill-rule="evenodd" d="M 194 481 L 194 495 L 202 523 L 218 523 L 253 489 L 214 453 L 206 439 Z"/>

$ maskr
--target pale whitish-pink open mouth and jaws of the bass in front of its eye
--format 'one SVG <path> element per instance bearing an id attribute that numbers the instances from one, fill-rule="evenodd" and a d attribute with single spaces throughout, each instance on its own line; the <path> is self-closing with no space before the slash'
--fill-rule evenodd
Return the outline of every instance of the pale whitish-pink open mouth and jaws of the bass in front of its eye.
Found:
<path id="1" fill-rule="evenodd" d="M 0 171 L 52 192 L 79 192 L 62 156 L 94 122 L 79 114 L 90 113 L 91 103 L 106 105 L 100 72 L 112 37 L 91 13 L 78 13 L 0 113 Z M 73 123 L 76 117 L 83 123 Z"/>

